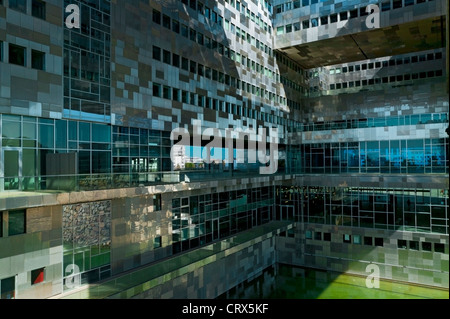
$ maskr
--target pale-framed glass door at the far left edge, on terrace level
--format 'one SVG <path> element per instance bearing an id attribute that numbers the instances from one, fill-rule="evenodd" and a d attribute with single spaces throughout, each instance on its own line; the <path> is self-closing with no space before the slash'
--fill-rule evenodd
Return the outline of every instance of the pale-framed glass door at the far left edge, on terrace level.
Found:
<path id="1" fill-rule="evenodd" d="M 1 166 L 3 168 L 2 190 L 20 190 L 22 180 L 22 150 L 3 148 Z M 3 185 L 1 185 L 3 184 Z"/>

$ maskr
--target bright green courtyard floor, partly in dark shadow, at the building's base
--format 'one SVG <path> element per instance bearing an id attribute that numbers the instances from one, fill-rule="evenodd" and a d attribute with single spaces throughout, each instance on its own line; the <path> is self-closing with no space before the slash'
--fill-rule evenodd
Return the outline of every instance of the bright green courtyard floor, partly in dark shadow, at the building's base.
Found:
<path id="1" fill-rule="evenodd" d="M 367 288 L 366 278 L 278 265 L 221 298 L 247 299 L 448 299 L 448 290 L 381 280 Z"/>

